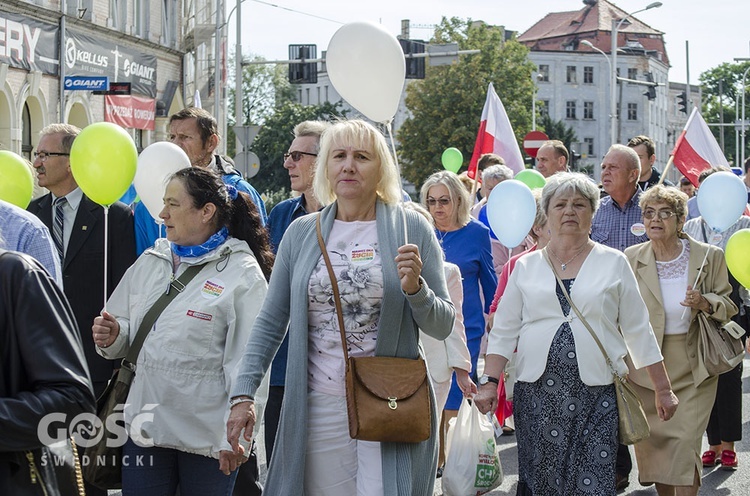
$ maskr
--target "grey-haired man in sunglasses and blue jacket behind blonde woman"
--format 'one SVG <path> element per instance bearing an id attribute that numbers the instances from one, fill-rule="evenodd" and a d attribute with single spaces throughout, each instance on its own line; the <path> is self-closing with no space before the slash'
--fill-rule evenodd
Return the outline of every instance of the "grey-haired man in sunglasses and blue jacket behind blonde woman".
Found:
<path id="1" fill-rule="evenodd" d="M 292 191 L 299 193 L 299 196 L 279 203 L 268 216 L 268 230 L 271 233 L 271 246 L 274 253 L 294 219 L 323 208 L 313 193 L 313 177 L 315 176 L 315 160 L 320 149 L 320 136 L 328 126 L 329 124 L 324 121 L 304 121 L 294 127 L 294 141 L 289 145 L 289 151 L 284 154 L 284 168 L 289 173 Z M 287 339 L 284 338 L 271 364 L 268 402 L 263 415 L 266 463 L 271 461 L 281 414 L 281 402 L 284 399 L 287 343 Z"/>

